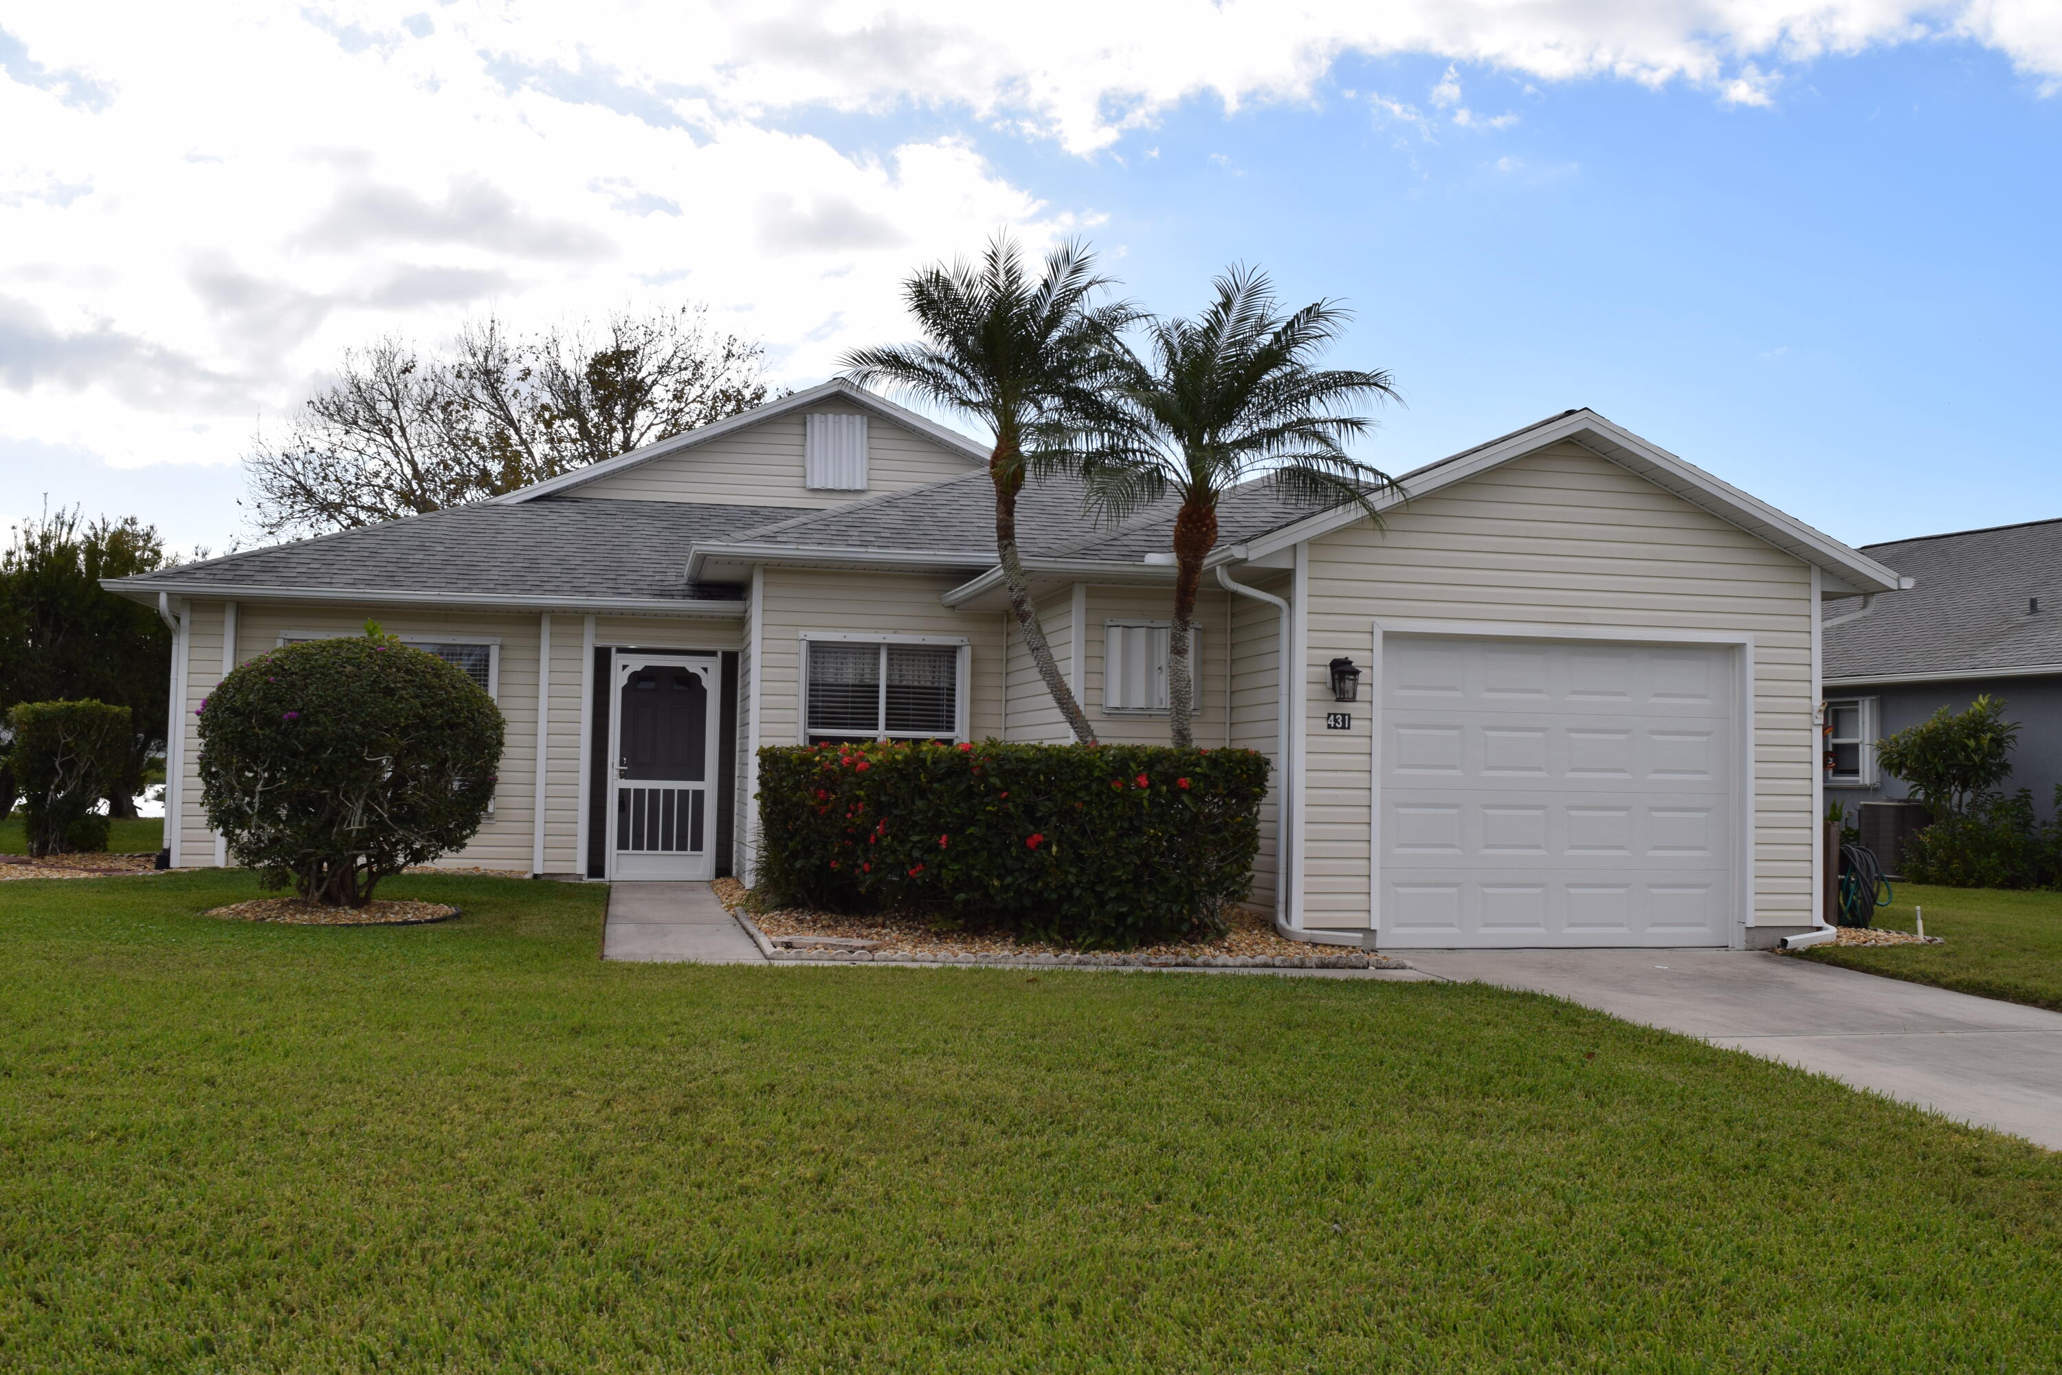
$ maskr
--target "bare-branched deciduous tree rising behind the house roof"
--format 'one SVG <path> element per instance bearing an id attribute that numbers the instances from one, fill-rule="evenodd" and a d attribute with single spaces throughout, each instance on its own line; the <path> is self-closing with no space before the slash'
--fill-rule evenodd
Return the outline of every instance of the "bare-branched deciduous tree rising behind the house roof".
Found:
<path id="1" fill-rule="evenodd" d="M 765 350 L 705 309 L 513 336 L 489 315 L 427 353 L 381 338 L 243 460 L 266 536 L 355 530 L 499 497 L 767 400 Z"/>

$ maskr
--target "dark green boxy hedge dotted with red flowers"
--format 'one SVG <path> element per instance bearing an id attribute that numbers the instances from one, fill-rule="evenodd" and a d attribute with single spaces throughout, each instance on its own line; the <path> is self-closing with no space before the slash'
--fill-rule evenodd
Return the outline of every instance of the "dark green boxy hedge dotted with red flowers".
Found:
<path id="1" fill-rule="evenodd" d="M 1219 930 L 1245 897 L 1268 763 L 1107 744 L 759 750 L 761 884 L 841 911 L 951 903 L 1039 940 Z"/>

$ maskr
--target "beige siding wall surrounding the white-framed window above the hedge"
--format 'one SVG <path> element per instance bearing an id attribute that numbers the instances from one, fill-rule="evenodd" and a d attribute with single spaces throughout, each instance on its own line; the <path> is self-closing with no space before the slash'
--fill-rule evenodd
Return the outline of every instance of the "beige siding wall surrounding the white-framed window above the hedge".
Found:
<path id="1" fill-rule="evenodd" d="M 1002 730 L 1002 653 L 990 612 L 957 612 L 938 602 L 961 579 L 922 573 L 767 569 L 761 629 L 759 744 L 802 740 L 802 631 L 843 635 L 963 635 L 971 645 L 967 734 Z"/>

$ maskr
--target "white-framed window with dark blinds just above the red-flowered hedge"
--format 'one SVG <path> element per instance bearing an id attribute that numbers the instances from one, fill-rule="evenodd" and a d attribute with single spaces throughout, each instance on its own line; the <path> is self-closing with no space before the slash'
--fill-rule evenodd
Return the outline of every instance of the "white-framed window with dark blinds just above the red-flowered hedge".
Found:
<path id="1" fill-rule="evenodd" d="M 953 740 L 961 645 L 802 641 L 806 736 L 819 740 Z"/>

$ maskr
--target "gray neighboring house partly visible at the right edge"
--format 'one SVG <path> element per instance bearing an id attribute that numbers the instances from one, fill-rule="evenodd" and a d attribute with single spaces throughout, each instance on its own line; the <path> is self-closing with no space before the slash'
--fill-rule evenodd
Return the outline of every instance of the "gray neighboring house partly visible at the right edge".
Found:
<path id="1" fill-rule="evenodd" d="M 1864 548 L 1914 579 L 1895 596 L 1825 604 L 1831 798 L 1903 798 L 1876 742 L 1980 695 L 2019 722 L 2006 790 L 2054 808 L 2062 783 L 2062 519 L 1932 534 Z"/>

